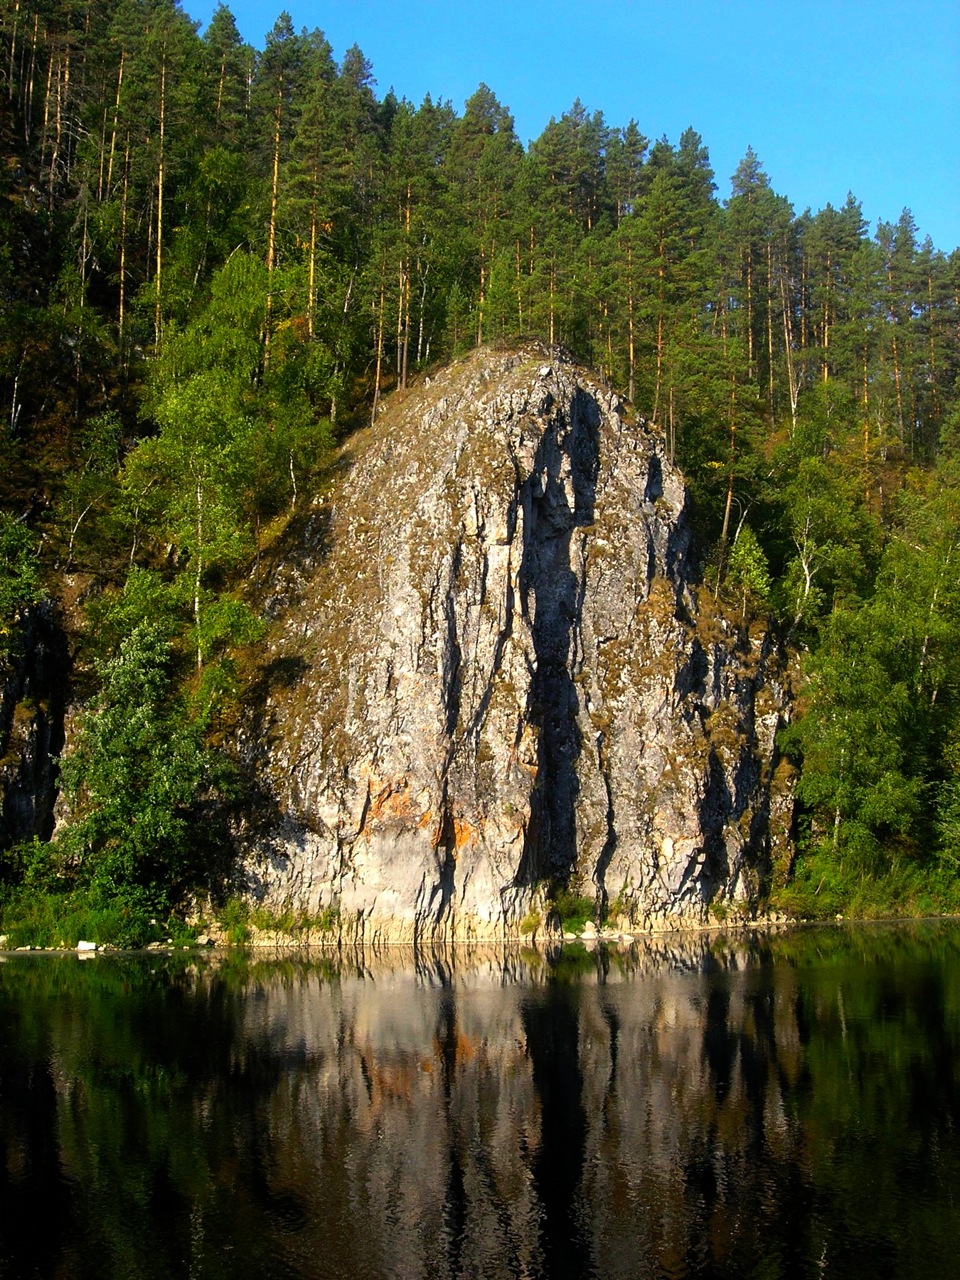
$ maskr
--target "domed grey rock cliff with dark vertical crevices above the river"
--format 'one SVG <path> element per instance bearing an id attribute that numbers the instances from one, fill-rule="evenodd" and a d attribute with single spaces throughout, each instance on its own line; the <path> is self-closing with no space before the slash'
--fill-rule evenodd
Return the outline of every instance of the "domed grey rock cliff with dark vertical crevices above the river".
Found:
<path id="1" fill-rule="evenodd" d="M 698 590 L 685 507 L 659 434 L 543 348 L 355 436 L 276 577 L 250 891 L 362 941 L 516 936 L 561 886 L 634 928 L 748 904 L 782 671 Z"/>

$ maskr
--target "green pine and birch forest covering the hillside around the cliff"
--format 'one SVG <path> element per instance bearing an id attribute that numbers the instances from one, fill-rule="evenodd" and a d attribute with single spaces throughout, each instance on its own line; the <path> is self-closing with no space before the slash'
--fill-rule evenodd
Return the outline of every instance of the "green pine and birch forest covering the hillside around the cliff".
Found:
<path id="1" fill-rule="evenodd" d="M 262 557 L 385 394 L 529 338 L 660 426 L 709 584 L 803 655 L 782 904 L 957 909 L 960 252 L 655 134 L 575 100 L 524 147 L 486 86 L 379 95 L 287 15 L 256 50 L 223 6 L 5 6 L 0 659 L 54 613 L 78 708 L 8 913 L 218 892 Z"/>

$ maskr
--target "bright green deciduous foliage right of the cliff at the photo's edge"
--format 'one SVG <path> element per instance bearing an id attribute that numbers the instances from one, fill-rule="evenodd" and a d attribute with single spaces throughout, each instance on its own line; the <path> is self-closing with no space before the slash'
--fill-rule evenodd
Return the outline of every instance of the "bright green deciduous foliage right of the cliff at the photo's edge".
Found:
<path id="1" fill-rule="evenodd" d="M 884 874 L 891 844 L 904 842 L 938 842 L 942 865 L 954 860 L 957 547 L 960 497 L 943 467 L 901 495 L 872 595 L 851 596 L 819 623 L 803 716 L 785 745 L 803 755 L 799 795 L 838 868 Z"/>

